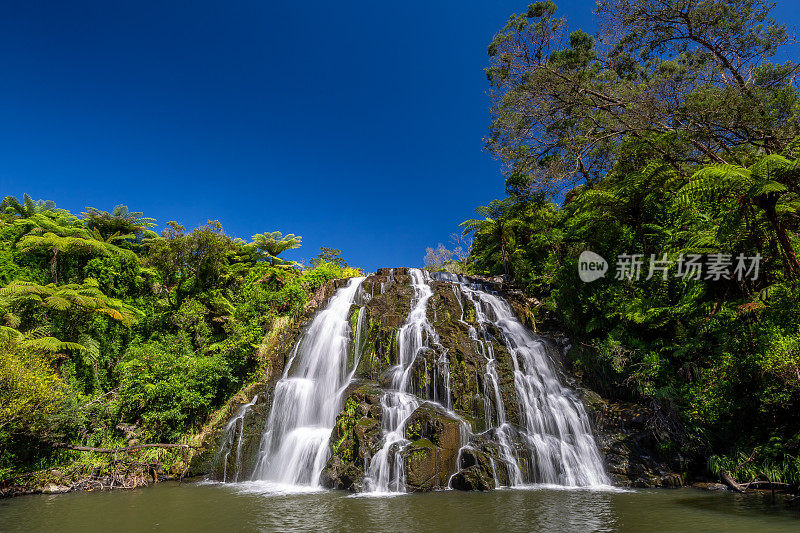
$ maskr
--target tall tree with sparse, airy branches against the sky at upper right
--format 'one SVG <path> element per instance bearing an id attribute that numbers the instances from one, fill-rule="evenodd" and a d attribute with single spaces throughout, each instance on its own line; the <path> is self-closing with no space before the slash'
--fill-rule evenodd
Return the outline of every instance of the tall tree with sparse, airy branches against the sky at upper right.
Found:
<path id="1" fill-rule="evenodd" d="M 597 39 L 567 35 L 553 2 L 513 15 L 489 45 L 487 69 L 487 146 L 509 192 L 559 197 L 597 183 L 631 148 L 678 171 L 780 151 L 798 132 L 798 66 L 768 62 L 788 41 L 770 9 L 763 0 L 601 0 Z"/>

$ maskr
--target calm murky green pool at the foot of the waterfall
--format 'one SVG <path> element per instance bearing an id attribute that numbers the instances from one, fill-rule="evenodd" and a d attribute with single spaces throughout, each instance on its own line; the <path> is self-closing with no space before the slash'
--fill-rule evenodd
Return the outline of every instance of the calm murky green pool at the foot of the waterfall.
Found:
<path id="1" fill-rule="evenodd" d="M 395 497 L 263 494 L 160 484 L 132 492 L 0 500 L 0 531 L 781 531 L 800 513 L 769 497 L 695 489 L 447 491 Z"/>

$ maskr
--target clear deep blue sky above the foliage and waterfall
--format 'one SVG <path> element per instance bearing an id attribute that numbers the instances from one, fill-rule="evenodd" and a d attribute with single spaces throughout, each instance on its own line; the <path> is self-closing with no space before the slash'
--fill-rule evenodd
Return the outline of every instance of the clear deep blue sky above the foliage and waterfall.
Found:
<path id="1" fill-rule="evenodd" d="M 483 68 L 527 4 L 6 0 L 0 195 L 420 265 L 503 196 Z M 589 31 L 593 5 L 559 2 Z"/>

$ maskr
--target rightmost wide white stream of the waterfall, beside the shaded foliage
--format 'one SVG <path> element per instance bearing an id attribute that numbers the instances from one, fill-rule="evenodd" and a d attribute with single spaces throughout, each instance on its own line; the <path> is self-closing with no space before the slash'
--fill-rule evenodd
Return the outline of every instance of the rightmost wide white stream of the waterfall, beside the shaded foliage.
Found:
<path id="1" fill-rule="evenodd" d="M 454 280 L 448 277 L 447 281 Z M 486 383 L 491 384 L 497 418 L 495 435 L 501 458 L 510 466 L 511 484 L 609 484 L 583 404 L 561 383 L 543 342 L 517 319 L 505 300 L 455 281 L 475 305 L 483 338 L 478 338 L 477 331 L 470 331 L 470 336 L 487 361 Z M 520 470 L 511 445 L 512 428 L 505 419 L 496 361 L 487 338 L 486 326 L 490 323 L 501 333 L 514 364 L 514 389 L 524 423 L 521 436 L 531 465 L 525 473 Z"/>

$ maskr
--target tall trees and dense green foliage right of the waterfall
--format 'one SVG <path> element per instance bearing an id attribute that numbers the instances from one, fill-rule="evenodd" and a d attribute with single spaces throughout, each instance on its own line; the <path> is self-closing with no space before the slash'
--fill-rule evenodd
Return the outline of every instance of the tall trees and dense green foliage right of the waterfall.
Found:
<path id="1" fill-rule="evenodd" d="M 786 29 L 758 0 L 598 6 L 602 50 L 567 37 L 552 2 L 489 47 L 488 146 L 510 196 L 462 224 L 468 268 L 539 297 L 589 385 L 651 402 L 665 453 L 710 473 L 752 456 L 743 481 L 798 484 L 800 100 L 797 65 L 768 61 Z M 605 277 L 581 281 L 584 250 Z M 621 254 L 641 254 L 640 275 L 617 279 Z M 704 273 L 679 276 L 694 254 Z M 707 275 L 715 258 L 727 275 Z"/>

